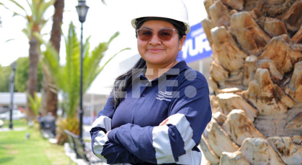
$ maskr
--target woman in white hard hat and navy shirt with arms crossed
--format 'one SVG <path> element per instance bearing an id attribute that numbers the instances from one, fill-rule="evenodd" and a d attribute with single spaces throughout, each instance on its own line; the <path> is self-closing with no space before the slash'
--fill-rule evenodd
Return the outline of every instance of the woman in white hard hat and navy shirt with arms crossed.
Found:
<path id="1" fill-rule="evenodd" d="M 117 77 L 90 131 L 92 150 L 109 164 L 200 164 L 212 113 L 204 76 L 176 60 L 190 31 L 187 9 L 181 0 L 141 8 L 132 20 L 141 59 Z"/>

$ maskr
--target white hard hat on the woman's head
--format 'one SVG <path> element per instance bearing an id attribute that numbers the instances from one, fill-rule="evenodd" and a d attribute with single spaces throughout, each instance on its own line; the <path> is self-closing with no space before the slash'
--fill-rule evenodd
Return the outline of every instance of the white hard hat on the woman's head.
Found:
<path id="1" fill-rule="evenodd" d="M 162 17 L 177 20 L 185 25 L 185 33 L 190 32 L 188 11 L 182 0 L 139 0 L 137 1 L 136 16 L 131 20 L 136 29 L 137 19 L 142 17 Z"/>

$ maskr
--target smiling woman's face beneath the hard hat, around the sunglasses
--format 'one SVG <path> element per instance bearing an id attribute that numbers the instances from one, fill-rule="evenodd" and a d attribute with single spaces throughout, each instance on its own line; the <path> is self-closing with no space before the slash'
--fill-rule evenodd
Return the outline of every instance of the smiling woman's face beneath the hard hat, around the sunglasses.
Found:
<path id="1" fill-rule="evenodd" d="M 140 29 L 149 29 L 157 33 L 162 29 L 175 29 L 172 23 L 163 20 L 148 20 Z M 149 41 L 142 41 L 137 37 L 137 48 L 141 57 L 147 64 L 165 66 L 175 61 L 178 51 L 182 50 L 182 45 L 186 36 L 179 40 L 177 31 L 173 32 L 172 39 L 161 41 L 158 35 L 154 34 Z"/>

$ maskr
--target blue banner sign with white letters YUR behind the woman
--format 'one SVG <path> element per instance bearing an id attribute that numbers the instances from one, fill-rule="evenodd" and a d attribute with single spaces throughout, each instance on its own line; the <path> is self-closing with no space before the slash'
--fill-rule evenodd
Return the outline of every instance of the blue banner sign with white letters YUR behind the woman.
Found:
<path id="1" fill-rule="evenodd" d="M 191 26 L 191 31 L 178 54 L 177 60 L 185 60 L 187 63 L 211 56 L 212 49 L 201 23 Z"/>

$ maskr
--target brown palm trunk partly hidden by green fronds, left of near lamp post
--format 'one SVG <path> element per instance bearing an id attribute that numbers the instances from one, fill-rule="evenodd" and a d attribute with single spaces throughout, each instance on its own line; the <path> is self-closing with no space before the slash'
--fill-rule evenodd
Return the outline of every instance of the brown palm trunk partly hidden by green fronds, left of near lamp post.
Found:
<path id="1" fill-rule="evenodd" d="M 64 0 L 56 0 L 54 3 L 55 13 L 53 14 L 53 27 L 51 30 L 50 42 L 55 47 L 55 49 L 60 51 L 60 41 L 61 41 L 61 24 L 63 19 L 63 8 Z M 42 110 L 46 112 L 52 112 L 56 117 L 57 104 L 58 104 L 58 89 L 55 85 L 50 72 L 47 71 L 47 67 L 43 67 L 43 104 Z"/>

